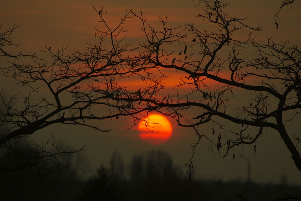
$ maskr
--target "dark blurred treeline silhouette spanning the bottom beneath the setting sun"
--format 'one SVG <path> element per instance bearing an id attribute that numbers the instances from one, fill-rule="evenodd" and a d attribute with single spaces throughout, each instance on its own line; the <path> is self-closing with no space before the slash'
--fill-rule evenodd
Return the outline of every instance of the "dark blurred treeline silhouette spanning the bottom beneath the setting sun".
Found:
<path id="1" fill-rule="evenodd" d="M 0 171 L 1 200 L 277 200 L 301 192 L 301 186 L 204 181 L 193 174 L 189 181 L 187 167 L 176 167 L 162 151 L 135 155 L 127 166 L 115 152 L 109 167 L 101 165 L 88 179 L 79 169 L 87 163 L 79 163 L 65 157 L 39 169 Z"/>

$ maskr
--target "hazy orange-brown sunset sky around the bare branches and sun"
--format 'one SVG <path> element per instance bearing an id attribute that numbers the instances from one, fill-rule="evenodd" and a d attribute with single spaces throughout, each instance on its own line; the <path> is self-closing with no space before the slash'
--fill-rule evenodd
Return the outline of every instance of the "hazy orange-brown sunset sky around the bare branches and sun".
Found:
<path id="1" fill-rule="evenodd" d="M 107 11 L 107 22 L 116 24 L 123 16 L 126 9 L 132 9 L 138 13 L 143 11 L 148 17 L 149 24 L 158 24 L 158 16 L 166 16 L 170 26 L 182 26 L 193 23 L 200 29 L 208 28 L 210 25 L 195 16 L 203 11 L 202 5 L 195 7 L 197 1 L 184 0 L 152 0 L 152 1 L 123 1 L 123 0 L 66 0 L 66 1 L 40 1 L 40 0 L 12 0 L 3 1 L 0 6 L 0 19 L 2 26 L 20 24 L 14 32 L 14 41 L 21 42 L 19 49 L 23 53 L 36 53 L 44 57 L 40 50 L 45 50 L 45 46 L 51 45 L 52 49 L 59 49 L 68 46 L 68 49 L 84 49 L 86 42 L 92 43 L 95 35 L 95 27 L 103 28 L 98 22 L 98 13 L 93 9 L 103 7 Z M 268 1 L 231 1 L 228 6 L 228 13 L 233 16 L 248 17 L 247 23 L 253 26 L 263 27 L 262 32 L 254 33 L 259 41 L 266 41 L 268 36 L 273 36 L 275 41 L 290 40 L 291 44 L 300 44 L 301 39 L 301 18 L 299 2 L 293 4 L 292 8 L 284 8 L 280 14 L 278 30 L 275 29 L 273 16 L 281 5 L 281 0 Z M 141 22 L 135 18 L 129 19 L 124 25 L 127 32 L 127 41 L 137 45 L 144 41 L 141 32 Z M 181 30 L 181 28 L 180 28 Z M 243 37 L 243 36 L 242 36 Z M 176 50 L 178 52 L 178 50 Z M 172 92 L 172 88 L 178 84 L 178 73 L 169 73 L 166 78 L 166 91 Z M 130 85 L 135 89 L 136 80 L 123 80 L 125 85 Z M 17 92 L 21 88 L 14 85 L 14 80 L 0 75 L 0 90 L 4 88 L 5 94 Z M 242 92 L 245 93 L 245 92 Z M 240 97 L 244 97 L 242 94 Z M 243 99 L 243 98 L 242 98 Z M 241 99 L 234 98 L 231 105 L 239 104 Z M 132 127 L 132 119 L 119 118 L 110 121 L 93 121 L 103 129 L 112 130 L 109 133 L 88 129 L 80 126 L 54 125 L 39 130 L 33 134 L 33 138 L 41 141 L 49 137 L 51 133 L 62 143 L 71 147 L 86 145 L 87 160 L 91 165 L 91 173 L 99 167 L 100 163 L 108 164 L 110 156 L 114 151 L 121 153 L 126 163 L 134 154 L 146 152 L 151 149 L 161 149 L 169 152 L 174 163 L 183 167 L 190 161 L 192 154 L 191 146 L 195 143 L 197 136 L 191 128 L 183 128 L 176 125 L 173 119 L 169 118 L 172 124 L 172 136 L 165 143 L 154 145 L 139 138 L 137 126 Z M 289 131 L 300 134 L 300 117 L 290 123 Z M 235 125 L 236 126 L 236 125 Z M 200 133 L 211 135 L 212 124 L 199 127 Z M 47 136 L 46 136 L 47 135 Z M 299 152 L 300 152 L 299 147 Z M 278 133 L 268 130 L 265 135 L 258 140 L 256 157 L 254 157 L 253 146 L 245 146 L 244 149 L 236 149 L 236 155 L 243 154 L 251 160 L 251 179 L 257 182 L 279 183 L 283 175 L 287 175 L 291 184 L 301 184 L 301 174 L 295 167 L 290 153 L 282 142 Z M 232 155 L 222 158 L 215 150 L 215 155 L 209 149 L 209 143 L 202 141 L 196 149 L 194 158 L 195 177 L 203 179 L 223 179 L 234 180 L 240 178 L 246 180 L 247 161 L 240 157 L 232 159 Z"/>

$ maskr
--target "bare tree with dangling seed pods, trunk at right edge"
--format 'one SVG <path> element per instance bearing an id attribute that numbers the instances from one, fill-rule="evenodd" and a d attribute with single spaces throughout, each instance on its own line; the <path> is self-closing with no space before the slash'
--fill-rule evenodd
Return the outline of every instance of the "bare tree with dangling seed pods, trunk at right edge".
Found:
<path id="1" fill-rule="evenodd" d="M 191 87 L 188 93 L 182 90 L 182 93 L 140 100 L 171 116 L 178 125 L 193 127 L 199 137 L 193 152 L 200 139 L 205 138 L 212 149 L 224 152 L 224 157 L 233 150 L 234 159 L 236 146 L 252 145 L 256 153 L 256 141 L 264 131 L 277 131 L 301 171 L 300 136 L 288 133 L 285 127 L 301 114 L 298 46 L 290 45 L 289 41 L 274 42 L 272 38 L 260 43 L 251 33 L 242 39 L 241 34 L 246 30 L 260 31 L 261 27 L 247 25 L 246 18 L 230 17 L 225 12 L 228 3 L 224 1 L 200 0 L 199 4 L 205 6 L 205 12 L 197 17 L 212 24 L 211 30 L 186 24 L 186 33 L 182 34 L 178 27 L 168 27 L 167 17 L 160 18 L 162 28 L 157 30 L 147 24 L 142 12 L 135 14 L 146 36 L 140 46 L 145 63 L 153 68 L 182 72 L 177 89 Z M 213 84 L 208 80 L 213 80 Z M 231 100 L 240 95 L 244 96 L 241 105 L 231 107 Z M 191 111 L 189 115 L 188 111 Z M 232 122 L 241 126 L 227 129 L 223 125 L 225 120 L 230 125 Z M 198 129 L 209 122 L 213 123 L 212 134 L 217 133 L 213 137 L 201 134 Z M 193 156 L 189 171 L 193 167 L 192 159 Z"/>

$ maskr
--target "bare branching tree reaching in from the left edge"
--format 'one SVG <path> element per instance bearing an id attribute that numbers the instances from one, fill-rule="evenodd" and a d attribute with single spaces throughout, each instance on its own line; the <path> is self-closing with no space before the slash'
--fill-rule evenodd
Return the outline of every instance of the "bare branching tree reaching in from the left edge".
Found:
<path id="1" fill-rule="evenodd" d="M 67 48 L 55 51 L 51 46 L 45 46 L 42 52 L 48 57 L 44 59 L 34 54 L 8 53 L 7 46 L 19 45 L 12 41 L 17 26 L 0 29 L 0 56 L 8 58 L 9 62 L 8 66 L 2 64 L 0 68 L 6 77 L 30 90 L 28 94 L 10 96 L 4 96 L 1 90 L 0 100 L 4 108 L 0 111 L 0 128 L 6 128 L 0 134 L 1 147 L 11 149 L 11 141 L 57 123 L 83 125 L 108 132 L 110 130 L 94 126 L 87 120 L 118 119 L 121 116 L 137 118 L 134 115 L 148 110 L 138 105 L 139 99 L 149 99 L 157 92 L 160 82 L 152 80 L 151 84 L 138 92 L 130 92 L 127 86 L 118 83 L 118 80 L 130 76 L 151 80 L 148 67 L 142 63 L 144 60 L 129 56 L 129 52 L 136 48 L 125 42 L 123 24 L 133 16 L 132 11 L 126 11 L 116 27 L 106 23 L 106 12 L 102 8 L 95 11 L 104 28 L 97 30 L 94 43 L 87 43 L 84 50 L 70 52 L 67 52 Z M 24 59 L 28 63 L 24 64 Z M 122 98 L 129 101 L 116 100 Z M 53 137 L 46 142 L 46 145 L 51 144 L 56 148 Z M 47 158 L 44 146 L 40 146 L 39 153 Z M 51 157 L 71 152 L 58 151 Z M 3 166 L 1 168 L 5 169 Z"/>

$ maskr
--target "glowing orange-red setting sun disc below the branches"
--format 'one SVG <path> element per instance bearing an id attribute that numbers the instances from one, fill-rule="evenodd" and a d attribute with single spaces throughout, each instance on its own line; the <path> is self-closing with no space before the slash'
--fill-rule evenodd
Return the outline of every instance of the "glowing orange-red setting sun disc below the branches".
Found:
<path id="1" fill-rule="evenodd" d="M 142 140 L 157 145 L 169 140 L 172 134 L 172 125 L 165 116 L 151 114 L 140 121 L 138 130 Z"/>

